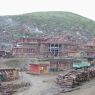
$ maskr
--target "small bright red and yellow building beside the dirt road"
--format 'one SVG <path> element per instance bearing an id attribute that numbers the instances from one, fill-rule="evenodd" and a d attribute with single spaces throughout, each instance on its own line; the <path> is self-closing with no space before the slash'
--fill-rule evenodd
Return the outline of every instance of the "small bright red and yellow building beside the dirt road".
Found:
<path id="1" fill-rule="evenodd" d="M 49 61 L 36 61 L 30 64 L 29 73 L 31 74 L 48 74 L 50 68 Z"/>

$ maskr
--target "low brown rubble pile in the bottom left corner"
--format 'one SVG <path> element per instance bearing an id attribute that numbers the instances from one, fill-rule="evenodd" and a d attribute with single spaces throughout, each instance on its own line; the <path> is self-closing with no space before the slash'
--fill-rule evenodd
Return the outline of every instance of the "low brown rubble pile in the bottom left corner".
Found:
<path id="1" fill-rule="evenodd" d="M 13 93 L 17 92 L 20 88 L 27 88 L 30 87 L 30 85 L 29 82 L 0 84 L 0 95 L 13 95 Z"/>

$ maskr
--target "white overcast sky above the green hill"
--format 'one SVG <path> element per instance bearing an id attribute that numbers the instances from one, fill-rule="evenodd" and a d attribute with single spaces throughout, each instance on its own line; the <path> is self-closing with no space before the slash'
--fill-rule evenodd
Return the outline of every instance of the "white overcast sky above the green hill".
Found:
<path id="1" fill-rule="evenodd" d="M 0 15 L 69 11 L 95 20 L 95 0 L 0 0 Z"/>

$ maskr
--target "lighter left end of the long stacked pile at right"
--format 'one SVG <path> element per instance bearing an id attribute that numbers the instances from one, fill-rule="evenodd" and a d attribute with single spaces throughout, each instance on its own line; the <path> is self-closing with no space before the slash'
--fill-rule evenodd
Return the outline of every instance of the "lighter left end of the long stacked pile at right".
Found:
<path id="1" fill-rule="evenodd" d="M 74 87 L 79 85 L 78 77 L 80 74 L 77 74 L 76 71 L 69 72 L 68 74 L 59 74 L 57 77 L 57 83 L 63 87 Z"/>

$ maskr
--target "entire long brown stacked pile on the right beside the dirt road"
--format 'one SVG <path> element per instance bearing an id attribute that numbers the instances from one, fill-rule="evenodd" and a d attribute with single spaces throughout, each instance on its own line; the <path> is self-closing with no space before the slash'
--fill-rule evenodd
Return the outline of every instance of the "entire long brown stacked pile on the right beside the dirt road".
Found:
<path id="1" fill-rule="evenodd" d="M 95 67 L 71 70 L 65 75 L 59 74 L 56 82 L 63 88 L 63 92 L 68 92 L 92 78 L 95 78 Z"/>

